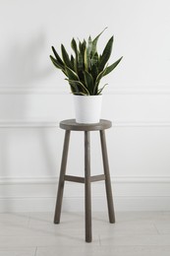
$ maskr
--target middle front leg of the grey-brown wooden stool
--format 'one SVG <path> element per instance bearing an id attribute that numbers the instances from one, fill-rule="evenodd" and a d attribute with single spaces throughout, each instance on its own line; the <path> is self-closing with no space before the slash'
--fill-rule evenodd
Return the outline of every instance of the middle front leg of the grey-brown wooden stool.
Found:
<path id="1" fill-rule="evenodd" d="M 90 142 L 85 131 L 85 241 L 91 242 Z"/>

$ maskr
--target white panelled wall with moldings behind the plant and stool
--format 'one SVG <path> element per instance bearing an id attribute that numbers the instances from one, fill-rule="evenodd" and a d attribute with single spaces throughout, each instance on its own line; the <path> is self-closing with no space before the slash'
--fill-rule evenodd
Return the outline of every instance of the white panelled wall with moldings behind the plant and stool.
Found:
<path id="1" fill-rule="evenodd" d="M 71 49 L 73 36 L 94 37 L 105 27 L 98 49 L 114 34 L 111 62 L 124 56 L 103 80 L 116 211 L 170 210 L 169 13 L 168 0 L 0 0 L 0 211 L 54 210 L 64 137 L 58 124 L 74 110 L 50 47 Z M 91 140 L 98 173 L 98 134 Z M 83 134 L 74 133 L 68 172 L 83 174 L 83 156 Z M 92 187 L 93 210 L 103 211 L 103 183 Z M 83 185 L 67 183 L 63 208 L 84 211 Z"/>

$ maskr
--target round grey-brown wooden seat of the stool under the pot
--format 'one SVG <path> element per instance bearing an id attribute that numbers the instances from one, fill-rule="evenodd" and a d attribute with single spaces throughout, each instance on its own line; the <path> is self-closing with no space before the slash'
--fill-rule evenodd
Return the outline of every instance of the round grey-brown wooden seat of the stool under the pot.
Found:
<path id="1" fill-rule="evenodd" d="M 112 122 L 101 119 L 99 123 L 84 124 L 77 123 L 75 119 L 63 120 L 60 122 L 60 128 L 71 131 L 99 131 L 109 129 Z"/>

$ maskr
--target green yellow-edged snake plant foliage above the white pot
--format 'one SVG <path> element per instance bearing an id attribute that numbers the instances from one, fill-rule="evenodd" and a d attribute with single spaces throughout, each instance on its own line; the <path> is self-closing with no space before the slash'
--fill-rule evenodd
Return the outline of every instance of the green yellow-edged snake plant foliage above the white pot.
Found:
<path id="1" fill-rule="evenodd" d="M 71 56 L 69 56 L 63 44 L 61 44 L 61 57 L 54 46 L 52 46 L 54 56 L 50 55 L 50 59 L 54 66 L 65 74 L 74 95 L 101 95 L 102 90 L 106 86 L 104 85 L 102 88 L 99 88 L 101 78 L 116 68 L 122 59 L 121 57 L 111 65 L 107 63 L 112 52 L 113 36 L 106 43 L 102 54 L 98 54 L 97 41 L 102 32 L 94 39 L 91 39 L 91 36 L 89 36 L 87 41 L 84 39 L 77 42 L 73 38 L 71 46 L 74 55 L 71 54 Z"/>

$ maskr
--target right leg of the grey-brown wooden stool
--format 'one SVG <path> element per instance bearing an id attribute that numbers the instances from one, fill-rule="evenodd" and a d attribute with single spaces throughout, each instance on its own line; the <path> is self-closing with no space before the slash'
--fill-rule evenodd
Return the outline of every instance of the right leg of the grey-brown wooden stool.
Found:
<path id="1" fill-rule="evenodd" d="M 102 159 L 103 159 L 103 167 L 104 167 L 104 174 L 105 174 L 105 186 L 106 186 L 109 221 L 111 224 L 114 224 L 115 213 L 114 213 L 114 206 L 113 206 L 112 188 L 111 188 L 111 181 L 110 181 L 109 163 L 108 163 L 108 157 L 107 157 L 107 148 L 106 148 L 106 139 L 105 139 L 104 130 L 100 131 L 100 140 L 101 140 Z"/>

